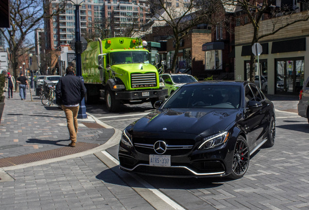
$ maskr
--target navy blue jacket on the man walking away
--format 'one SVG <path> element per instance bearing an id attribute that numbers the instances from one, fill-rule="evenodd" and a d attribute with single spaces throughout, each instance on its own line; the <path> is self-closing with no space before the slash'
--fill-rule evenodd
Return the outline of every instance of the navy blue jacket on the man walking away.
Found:
<path id="1" fill-rule="evenodd" d="M 86 88 L 81 78 L 69 72 L 59 79 L 55 93 L 58 105 L 76 105 L 83 100 Z"/>

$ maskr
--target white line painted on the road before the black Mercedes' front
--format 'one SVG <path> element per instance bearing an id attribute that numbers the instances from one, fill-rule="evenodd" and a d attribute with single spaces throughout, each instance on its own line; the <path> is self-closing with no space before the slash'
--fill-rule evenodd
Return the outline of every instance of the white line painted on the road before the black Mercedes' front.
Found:
<path id="1" fill-rule="evenodd" d="M 104 156 L 108 157 L 110 160 L 112 160 L 114 163 L 116 163 L 117 165 L 119 165 L 119 161 L 111 156 L 108 152 L 106 151 L 101 151 L 103 153 Z M 161 198 L 165 203 L 169 204 L 173 209 L 175 210 L 185 210 L 184 208 L 182 208 L 179 204 L 177 204 L 175 201 L 173 201 L 171 198 L 169 198 L 167 195 L 165 195 L 164 193 L 160 192 L 159 190 L 157 190 L 156 188 L 154 188 L 154 186 L 152 186 L 151 184 L 149 184 L 148 182 L 146 182 L 144 179 L 137 177 L 137 175 L 135 174 L 129 174 L 131 175 L 133 178 L 135 178 L 140 184 L 142 184 L 144 187 L 146 187 L 148 190 L 152 191 L 156 196 L 158 196 L 159 198 Z"/>

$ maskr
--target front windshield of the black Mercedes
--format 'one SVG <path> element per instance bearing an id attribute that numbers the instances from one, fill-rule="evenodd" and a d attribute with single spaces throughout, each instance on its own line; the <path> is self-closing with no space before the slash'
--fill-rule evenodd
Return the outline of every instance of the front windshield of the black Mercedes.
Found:
<path id="1" fill-rule="evenodd" d="M 240 107 L 240 87 L 196 85 L 179 88 L 163 108 L 231 108 Z"/>

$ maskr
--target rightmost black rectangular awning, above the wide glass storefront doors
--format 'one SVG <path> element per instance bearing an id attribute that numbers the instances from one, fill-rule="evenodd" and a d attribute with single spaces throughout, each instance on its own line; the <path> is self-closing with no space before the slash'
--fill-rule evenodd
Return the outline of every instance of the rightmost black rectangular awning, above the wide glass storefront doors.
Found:
<path id="1" fill-rule="evenodd" d="M 306 38 L 273 42 L 272 53 L 306 51 Z"/>

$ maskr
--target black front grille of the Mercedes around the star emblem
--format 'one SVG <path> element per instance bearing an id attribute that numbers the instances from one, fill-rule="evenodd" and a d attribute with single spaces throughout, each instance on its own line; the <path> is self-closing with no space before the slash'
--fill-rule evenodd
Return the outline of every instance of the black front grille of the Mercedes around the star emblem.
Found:
<path id="1" fill-rule="evenodd" d="M 163 155 L 184 155 L 192 150 L 195 141 L 190 139 L 145 139 L 133 138 L 133 144 L 136 150 L 144 154 L 157 154 L 154 151 L 154 143 L 162 140 L 167 145 L 167 150 Z"/>

